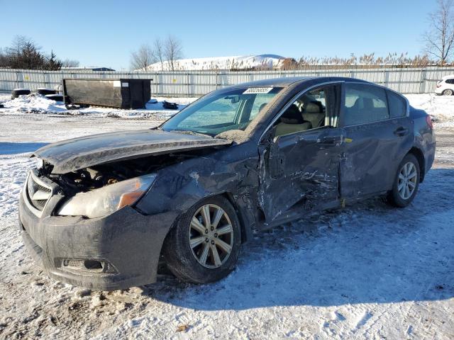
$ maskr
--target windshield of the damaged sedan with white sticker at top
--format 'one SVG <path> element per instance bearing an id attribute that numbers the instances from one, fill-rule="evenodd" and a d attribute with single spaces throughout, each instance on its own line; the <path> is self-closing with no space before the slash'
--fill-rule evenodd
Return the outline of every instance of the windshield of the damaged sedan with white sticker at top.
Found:
<path id="1" fill-rule="evenodd" d="M 211 136 L 228 130 L 245 130 L 281 89 L 244 87 L 214 91 L 184 108 L 161 128 L 165 131 L 196 132 Z"/>

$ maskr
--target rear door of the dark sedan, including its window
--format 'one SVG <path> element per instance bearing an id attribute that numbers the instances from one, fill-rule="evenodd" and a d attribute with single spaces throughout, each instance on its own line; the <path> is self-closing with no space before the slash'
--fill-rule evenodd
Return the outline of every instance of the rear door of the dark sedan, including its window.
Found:
<path id="1" fill-rule="evenodd" d="M 413 138 L 406 100 L 381 86 L 346 82 L 340 120 L 341 197 L 388 191 Z"/>

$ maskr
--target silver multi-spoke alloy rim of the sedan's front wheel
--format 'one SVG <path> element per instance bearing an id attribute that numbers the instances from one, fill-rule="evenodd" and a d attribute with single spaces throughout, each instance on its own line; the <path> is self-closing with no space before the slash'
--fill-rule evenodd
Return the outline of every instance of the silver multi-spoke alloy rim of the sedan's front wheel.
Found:
<path id="1" fill-rule="evenodd" d="M 202 205 L 192 216 L 188 241 L 192 255 L 202 266 L 222 266 L 233 247 L 233 226 L 227 213 L 218 205 Z"/>

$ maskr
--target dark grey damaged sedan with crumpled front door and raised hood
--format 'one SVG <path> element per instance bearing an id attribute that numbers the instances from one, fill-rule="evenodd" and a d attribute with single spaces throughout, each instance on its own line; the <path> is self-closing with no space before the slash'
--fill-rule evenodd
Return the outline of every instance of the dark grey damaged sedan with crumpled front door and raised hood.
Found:
<path id="1" fill-rule="evenodd" d="M 239 84 L 158 128 L 38 149 L 19 227 L 48 274 L 73 285 L 153 283 L 161 263 L 209 283 L 233 270 L 253 230 L 372 196 L 406 207 L 435 146 L 426 112 L 367 81 Z"/>

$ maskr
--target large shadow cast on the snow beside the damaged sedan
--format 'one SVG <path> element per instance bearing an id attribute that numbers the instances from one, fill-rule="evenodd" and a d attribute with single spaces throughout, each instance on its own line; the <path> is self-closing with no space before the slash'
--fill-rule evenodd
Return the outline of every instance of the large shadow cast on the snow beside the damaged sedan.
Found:
<path id="1" fill-rule="evenodd" d="M 434 169 L 414 203 L 380 198 L 258 232 L 211 285 L 163 276 L 150 298 L 194 310 L 443 300 L 454 296 L 454 169 Z"/>

